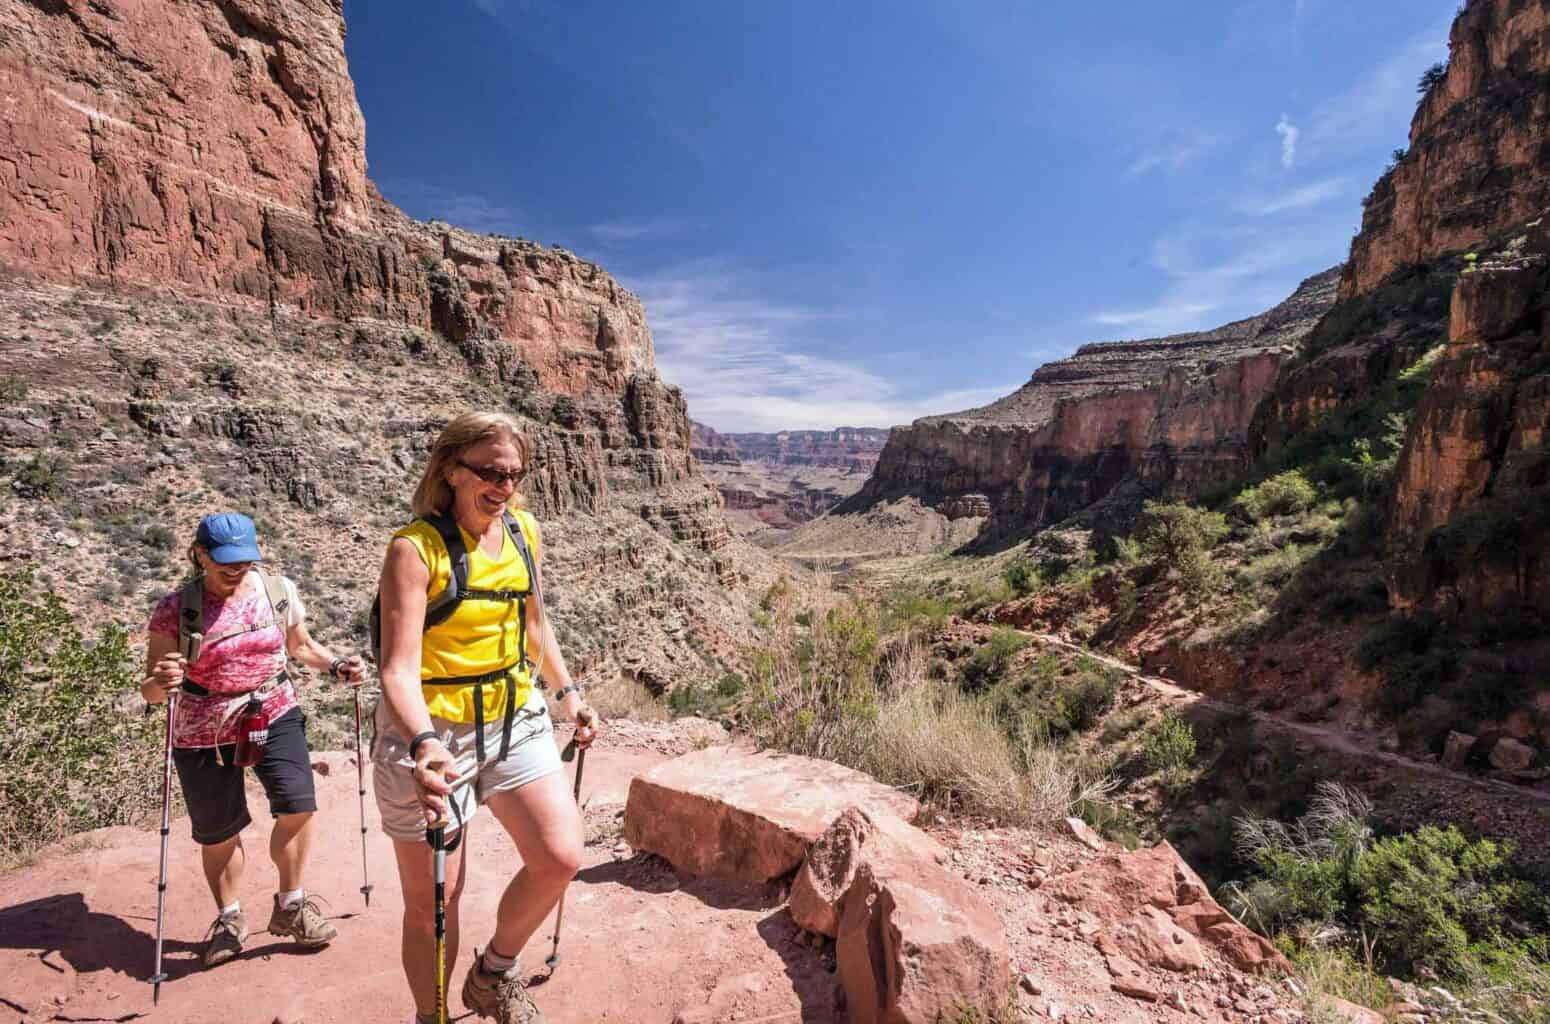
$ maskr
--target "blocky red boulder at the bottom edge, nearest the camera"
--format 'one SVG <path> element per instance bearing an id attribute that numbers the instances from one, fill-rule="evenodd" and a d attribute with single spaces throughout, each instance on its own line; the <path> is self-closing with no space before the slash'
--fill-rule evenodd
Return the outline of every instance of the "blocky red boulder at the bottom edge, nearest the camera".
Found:
<path id="1" fill-rule="evenodd" d="M 835 943 L 851 1024 L 936 1024 L 989 1013 L 1012 981 L 1001 922 L 932 860 L 863 861 Z"/>

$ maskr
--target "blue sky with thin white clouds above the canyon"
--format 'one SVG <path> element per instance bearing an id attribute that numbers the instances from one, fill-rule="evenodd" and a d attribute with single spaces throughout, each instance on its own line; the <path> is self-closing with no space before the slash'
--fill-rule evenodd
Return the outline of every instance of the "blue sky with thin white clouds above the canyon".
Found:
<path id="1" fill-rule="evenodd" d="M 646 304 L 721 431 L 891 426 L 1344 259 L 1457 0 L 346 0 L 370 174 Z"/>

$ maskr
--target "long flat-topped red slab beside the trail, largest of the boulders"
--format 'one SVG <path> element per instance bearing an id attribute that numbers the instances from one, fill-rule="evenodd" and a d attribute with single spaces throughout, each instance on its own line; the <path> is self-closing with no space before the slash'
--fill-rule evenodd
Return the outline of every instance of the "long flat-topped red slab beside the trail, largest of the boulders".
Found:
<path id="1" fill-rule="evenodd" d="M 829 761 L 708 747 L 629 784 L 625 838 L 679 871 L 769 881 L 795 871 L 846 807 L 914 818 L 914 798 Z"/>

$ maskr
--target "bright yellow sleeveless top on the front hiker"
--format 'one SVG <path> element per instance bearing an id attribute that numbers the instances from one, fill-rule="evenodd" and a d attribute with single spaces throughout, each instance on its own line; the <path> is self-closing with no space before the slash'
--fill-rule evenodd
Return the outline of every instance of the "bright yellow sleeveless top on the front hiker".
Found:
<path id="1" fill-rule="evenodd" d="M 532 514 L 513 513 L 527 539 L 527 547 L 538 561 L 538 522 Z M 462 530 L 462 527 L 459 527 Z M 431 572 L 426 601 L 431 601 L 453 578 L 453 561 L 442 544 L 436 527 L 415 519 L 394 534 L 403 538 L 420 553 L 420 561 Z M 527 590 L 527 565 L 507 531 L 501 531 L 501 558 L 490 558 L 479 548 L 479 541 L 463 530 L 463 545 L 468 548 L 468 587 L 471 590 Z M 533 598 L 529 598 L 529 604 Z M 505 714 L 505 688 L 512 685 L 515 706 L 521 708 L 533 688 L 533 680 L 521 668 L 518 649 L 522 634 L 518 621 L 516 601 L 462 601 L 445 623 L 425 631 L 420 641 L 420 679 L 446 679 L 456 675 L 484 675 L 502 668 L 512 672 L 504 680 L 484 685 L 484 719 L 498 722 Z M 538 657 L 538 637 L 527 632 L 527 657 Z M 432 685 L 425 686 L 425 706 L 439 719 L 450 722 L 474 722 L 474 686 Z"/>

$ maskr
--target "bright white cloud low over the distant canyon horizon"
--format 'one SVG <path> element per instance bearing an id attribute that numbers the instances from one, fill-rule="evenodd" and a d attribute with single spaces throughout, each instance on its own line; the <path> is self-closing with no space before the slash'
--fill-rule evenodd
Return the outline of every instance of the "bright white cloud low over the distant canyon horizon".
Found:
<path id="1" fill-rule="evenodd" d="M 859 361 L 820 355 L 840 316 L 760 297 L 746 277 L 696 265 L 625 282 L 646 305 L 662 376 L 719 431 L 897 426 L 998 398 L 1008 387 L 902 393 Z"/>

